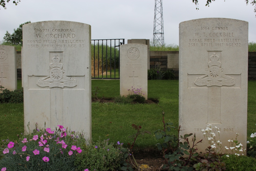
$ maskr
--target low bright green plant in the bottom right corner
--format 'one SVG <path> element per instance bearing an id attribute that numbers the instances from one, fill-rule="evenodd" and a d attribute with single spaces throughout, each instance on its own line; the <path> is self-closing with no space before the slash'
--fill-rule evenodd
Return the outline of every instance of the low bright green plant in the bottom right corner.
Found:
<path id="1" fill-rule="evenodd" d="M 226 155 L 221 159 L 226 164 L 227 171 L 255 171 L 256 159 L 248 156 Z"/>

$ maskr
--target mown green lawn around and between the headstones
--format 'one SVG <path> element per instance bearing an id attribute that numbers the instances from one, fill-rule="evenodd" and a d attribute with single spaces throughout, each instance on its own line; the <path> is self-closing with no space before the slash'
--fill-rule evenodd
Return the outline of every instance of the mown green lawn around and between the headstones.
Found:
<path id="1" fill-rule="evenodd" d="M 21 82 L 18 80 L 18 82 Z M 92 80 L 92 90 L 98 86 L 98 97 L 115 97 L 120 95 L 119 80 Z M 247 138 L 256 132 L 256 81 L 248 81 L 248 127 Z M 178 80 L 148 80 L 148 98 L 158 98 L 159 106 L 165 112 L 165 121 L 178 126 Z M 131 143 L 128 136 L 135 133 L 132 124 L 141 125 L 142 130 L 152 133 L 162 129 L 162 108 L 156 104 L 116 104 L 92 103 L 92 138 L 94 141 L 108 139 Z M 17 139 L 23 132 L 23 104 L 0 105 L 0 139 Z M 5 116 L 6 115 L 6 116 Z M 16 128 L 18 127 L 18 128 Z M 177 132 L 172 132 L 177 134 Z M 137 147 L 154 146 L 157 140 L 153 135 L 138 137 Z"/>

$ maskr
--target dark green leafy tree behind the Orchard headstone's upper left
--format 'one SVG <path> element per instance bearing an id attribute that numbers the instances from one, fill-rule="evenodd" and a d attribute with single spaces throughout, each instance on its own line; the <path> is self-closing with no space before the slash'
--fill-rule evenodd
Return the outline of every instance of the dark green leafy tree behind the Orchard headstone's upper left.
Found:
<path id="1" fill-rule="evenodd" d="M 31 23 L 30 21 L 20 24 L 17 29 L 13 29 L 13 34 L 10 34 L 8 31 L 6 31 L 4 40 L 8 43 L 12 43 L 14 45 L 22 44 L 22 26 L 24 24 Z"/>

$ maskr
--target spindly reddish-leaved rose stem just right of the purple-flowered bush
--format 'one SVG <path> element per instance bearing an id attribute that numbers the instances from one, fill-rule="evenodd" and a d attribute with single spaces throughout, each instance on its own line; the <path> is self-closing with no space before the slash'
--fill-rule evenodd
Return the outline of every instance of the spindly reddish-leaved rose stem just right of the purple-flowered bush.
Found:
<path id="1" fill-rule="evenodd" d="M 151 134 L 151 132 L 149 131 L 141 131 L 141 126 L 137 126 L 135 124 L 132 124 L 132 127 L 137 130 L 137 133 L 129 136 L 129 138 L 133 137 L 133 143 L 132 145 L 130 143 L 128 143 L 129 147 L 128 148 L 122 148 L 121 151 L 123 152 L 123 160 L 121 161 L 121 165 L 123 165 L 121 167 L 121 170 L 129 170 L 129 171 L 133 171 L 133 168 L 138 169 L 138 164 L 136 163 L 136 160 L 133 156 L 133 146 L 135 144 L 135 141 L 138 137 L 138 135 L 144 135 L 145 133 L 147 134 Z"/>

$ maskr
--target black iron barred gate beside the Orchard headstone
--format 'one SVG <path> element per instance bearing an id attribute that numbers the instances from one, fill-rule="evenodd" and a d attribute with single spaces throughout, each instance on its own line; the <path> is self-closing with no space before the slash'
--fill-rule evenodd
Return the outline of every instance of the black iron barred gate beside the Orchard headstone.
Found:
<path id="1" fill-rule="evenodd" d="M 120 45 L 124 39 L 91 40 L 92 79 L 120 79 Z"/>

